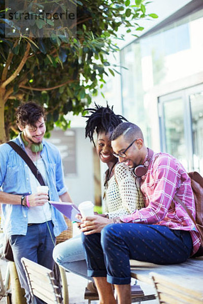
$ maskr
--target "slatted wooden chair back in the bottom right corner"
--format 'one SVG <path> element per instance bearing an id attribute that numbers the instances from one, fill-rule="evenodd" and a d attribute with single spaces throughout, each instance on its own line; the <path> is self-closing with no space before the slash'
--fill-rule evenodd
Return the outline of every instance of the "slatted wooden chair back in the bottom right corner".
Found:
<path id="1" fill-rule="evenodd" d="M 185 286 L 181 286 L 181 282 L 168 279 L 151 272 L 150 276 L 154 282 L 159 304 L 202 304 L 202 292 L 195 291 Z"/>

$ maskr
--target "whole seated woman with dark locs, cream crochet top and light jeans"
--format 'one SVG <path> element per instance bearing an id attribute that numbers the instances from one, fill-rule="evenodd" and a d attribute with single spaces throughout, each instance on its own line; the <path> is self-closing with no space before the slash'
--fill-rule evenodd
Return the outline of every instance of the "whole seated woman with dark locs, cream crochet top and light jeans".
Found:
<path id="1" fill-rule="evenodd" d="M 105 214 L 94 215 L 91 220 L 79 224 L 81 231 L 92 234 L 99 233 L 104 226 L 114 222 L 117 216 L 141 209 L 144 202 L 131 170 L 123 163 L 118 164 L 118 158 L 113 156 L 110 135 L 116 126 L 126 119 L 116 115 L 113 107 L 110 108 L 108 104 L 106 107 L 95 104 L 95 108 L 86 110 L 91 114 L 85 116 L 88 118 L 85 136 L 93 142 L 99 159 L 108 166 L 104 178 Z M 96 144 L 93 138 L 94 131 L 97 134 Z M 53 258 L 65 270 L 88 278 L 80 235 L 58 244 L 54 248 Z"/>

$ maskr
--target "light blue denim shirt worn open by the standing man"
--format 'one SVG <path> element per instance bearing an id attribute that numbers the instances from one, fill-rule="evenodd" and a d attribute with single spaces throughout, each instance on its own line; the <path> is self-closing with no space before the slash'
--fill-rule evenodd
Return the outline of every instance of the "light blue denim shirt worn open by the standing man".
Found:
<path id="1" fill-rule="evenodd" d="M 13 141 L 24 149 L 24 143 L 20 135 Z M 41 157 L 47 171 L 49 197 L 51 201 L 58 201 L 59 196 L 67 191 L 64 186 L 60 153 L 53 144 L 45 140 L 43 140 L 43 145 Z M 17 195 L 31 194 L 28 166 L 6 143 L 0 145 L 0 191 Z M 51 209 L 54 236 L 56 237 L 67 226 L 62 213 L 53 206 L 51 206 Z M 8 236 L 26 235 L 27 211 L 28 208 L 21 205 L 2 204 L 2 226 Z"/>

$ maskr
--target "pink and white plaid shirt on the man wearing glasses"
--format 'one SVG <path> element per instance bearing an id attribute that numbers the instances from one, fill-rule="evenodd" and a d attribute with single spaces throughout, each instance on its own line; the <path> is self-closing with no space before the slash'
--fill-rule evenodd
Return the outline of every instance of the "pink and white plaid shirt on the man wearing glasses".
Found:
<path id="1" fill-rule="evenodd" d="M 195 204 L 190 178 L 173 156 L 166 153 L 154 154 L 147 173 L 142 177 L 141 191 L 145 208 L 130 215 L 122 216 L 123 222 L 157 224 L 175 230 L 190 231 L 193 250 L 200 246 L 199 233 L 183 207 L 173 200 L 176 194 L 195 218 Z"/>

